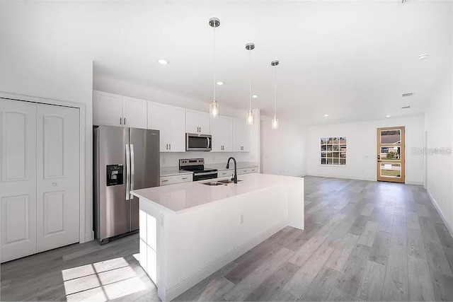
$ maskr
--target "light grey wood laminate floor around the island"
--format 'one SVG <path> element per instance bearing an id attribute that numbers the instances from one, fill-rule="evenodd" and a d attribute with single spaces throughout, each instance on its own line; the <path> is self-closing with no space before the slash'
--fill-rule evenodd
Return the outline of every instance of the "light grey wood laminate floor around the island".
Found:
<path id="1" fill-rule="evenodd" d="M 306 177 L 284 228 L 178 301 L 452 301 L 453 239 L 423 187 Z M 1 301 L 158 301 L 137 235 L 1 265 Z"/>

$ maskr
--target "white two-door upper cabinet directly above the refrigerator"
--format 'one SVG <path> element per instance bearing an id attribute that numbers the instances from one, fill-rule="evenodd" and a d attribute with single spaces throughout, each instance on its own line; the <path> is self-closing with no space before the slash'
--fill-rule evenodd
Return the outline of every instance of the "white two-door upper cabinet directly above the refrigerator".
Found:
<path id="1" fill-rule="evenodd" d="M 147 101 L 93 91 L 93 124 L 147 128 Z"/>

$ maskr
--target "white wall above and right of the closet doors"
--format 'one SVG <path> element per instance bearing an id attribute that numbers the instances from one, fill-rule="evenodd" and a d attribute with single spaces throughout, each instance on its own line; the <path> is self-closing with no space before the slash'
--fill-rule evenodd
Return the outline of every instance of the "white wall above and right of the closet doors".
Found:
<path id="1" fill-rule="evenodd" d="M 0 4 L 0 91 L 86 105 L 86 239 L 93 238 L 93 60 L 64 45 L 55 24 L 30 6 Z M 84 238 L 81 238 L 83 240 Z"/>

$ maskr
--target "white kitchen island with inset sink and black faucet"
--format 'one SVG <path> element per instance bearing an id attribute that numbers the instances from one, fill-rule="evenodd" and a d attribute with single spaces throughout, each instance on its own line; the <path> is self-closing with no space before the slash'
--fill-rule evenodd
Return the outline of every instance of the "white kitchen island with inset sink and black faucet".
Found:
<path id="1" fill-rule="evenodd" d="M 140 265 L 170 301 L 285 226 L 304 229 L 304 179 L 239 175 L 237 184 L 184 182 L 134 190 Z"/>

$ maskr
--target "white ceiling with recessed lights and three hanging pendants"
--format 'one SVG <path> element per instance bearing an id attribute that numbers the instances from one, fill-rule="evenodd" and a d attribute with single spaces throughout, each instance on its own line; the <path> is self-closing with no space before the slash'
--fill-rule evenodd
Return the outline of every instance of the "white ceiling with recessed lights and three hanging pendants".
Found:
<path id="1" fill-rule="evenodd" d="M 32 5 L 32 4 L 30 4 Z M 95 75 L 212 100 L 212 16 L 220 105 L 248 107 L 254 42 L 254 108 L 301 124 L 349 122 L 425 110 L 451 68 L 452 2 L 82 1 L 35 5 L 49 35 L 88 52 Z M 418 61 L 419 54 L 430 54 Z M 162 66 L 158 59 L 168 59 Z M 413 97 L 401 98 L 401 93 Z M 411 105 L 401 110 L 402 105 Z M 328 114 L 328 117 L 323 115 Z"/>

